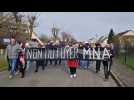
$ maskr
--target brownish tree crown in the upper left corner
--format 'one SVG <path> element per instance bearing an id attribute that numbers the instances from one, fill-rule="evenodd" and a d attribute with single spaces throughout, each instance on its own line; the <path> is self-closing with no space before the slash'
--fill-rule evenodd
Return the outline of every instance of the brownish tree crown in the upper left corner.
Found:
<path id="1" fill-rule="evenodd" d="M 18 40 L 24 40 L 28 37 L 27 24 L 24 23 L 22 13 L 18 12 L 0 12 L 0 31 L 1 36 L 15 36 Z"/>

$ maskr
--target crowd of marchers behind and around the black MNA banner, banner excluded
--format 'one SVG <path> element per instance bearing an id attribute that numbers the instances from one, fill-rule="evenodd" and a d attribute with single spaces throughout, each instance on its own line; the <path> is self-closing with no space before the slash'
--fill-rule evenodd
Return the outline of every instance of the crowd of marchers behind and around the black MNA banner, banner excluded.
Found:
<path id="1" fill-rule="evenodd" d="M 25 61 L 25 48 L 63 48 L 63 47 L 77 47 L 77 48 L 92 48 L 93 46 L 88 42 L 75 42 L 75 43 L 66 43 L 66 42 L 53 42 L 48 41 L 44 45 L 40 45 L 35 39 L 32 39 L 31 41 L 26 42 L 18 42 L 14 37 L 11 38 L 10 44 L 7 46 L 6 49 L 6 58 L 8 60 L 8 70 L 10 72 L 9 78 L 12 79 L 15 75 L 21 75 L 21 78 L 24 78 L 26 70 L 29 69 L 30 64 L 32 61 Z M 112 58 L 113 58 L 113 45 L 107 44 L 105 46 L 102 46 L 100 43 L 96 43 L 93 48 L 96 50 L 98 48 L 109 48 L 111 52 L 110 60 L 96 60 L 96 61 L 89 61 L 89 60 L 82 60 L 82 55 L 78 54 L 80 59 L 68 59 L 66 61 L 66 64 L 68 65 L 70 69 L 70 78 L 77 77 L 77 68 L 83 68 L 87 69 L 91 63 L 96 63 L 96 73 L 100 71 L 101 63 L 104 66 L 104 75 L 105 79 L 109 78 L 110 69 L 112 66 Z M 36 69 L 35 72 L 38 72 L 39 66 L 42 66 L 42 69 L 44 70 L 45 67 L 50 64 L 60 65 L 62 63 L 61 59 L 45 59 L 45 60 L 37 60 L 36 61 Z"/>

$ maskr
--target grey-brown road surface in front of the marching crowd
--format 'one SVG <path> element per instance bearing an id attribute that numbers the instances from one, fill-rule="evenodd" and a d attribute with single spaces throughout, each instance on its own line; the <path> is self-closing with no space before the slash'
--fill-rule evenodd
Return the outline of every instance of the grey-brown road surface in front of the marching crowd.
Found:
<path id="1" fill-rule="evenodd" d="M 8 71 L 0 72 L 0 87 L 117 87 L 111 77 L 107 81 L 104 79 L 103 66 L 99 73 L 95 73 L 94 64 L 86 70 L 77 69 L 77 78 L 71 79 L 65 62 L 60 66 L 49 65 L 44 71 L 40 67 L 37 73 L 34 65 L 30 66 L 23 79 L 15 76 L 10 80 Z"/>

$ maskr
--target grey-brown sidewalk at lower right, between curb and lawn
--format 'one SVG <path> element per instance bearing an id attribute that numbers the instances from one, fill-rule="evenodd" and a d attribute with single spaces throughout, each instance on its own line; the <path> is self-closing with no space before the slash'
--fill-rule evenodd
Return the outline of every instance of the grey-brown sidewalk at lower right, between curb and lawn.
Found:
<path id="1" fill-rule="evenodd" d="M 134 71 L 132 69 L 114 61 L 112 71 L 127 87 L 134 87 Z"/>

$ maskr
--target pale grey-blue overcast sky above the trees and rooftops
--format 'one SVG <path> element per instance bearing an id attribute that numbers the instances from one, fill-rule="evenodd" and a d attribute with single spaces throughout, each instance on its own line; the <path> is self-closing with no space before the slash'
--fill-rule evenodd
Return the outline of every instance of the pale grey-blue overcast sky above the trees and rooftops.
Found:
<path id="1" fill-rule="evenodd" d="M 81 41 L 108 34 L 134 29 L 134 12 L 39 12 L 38 34 L 50 36 L 53 24 L 61 31 L 71 33 Z"/>

